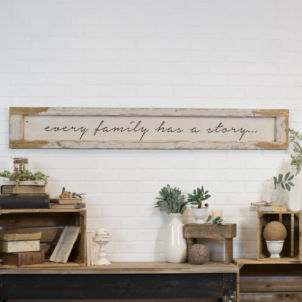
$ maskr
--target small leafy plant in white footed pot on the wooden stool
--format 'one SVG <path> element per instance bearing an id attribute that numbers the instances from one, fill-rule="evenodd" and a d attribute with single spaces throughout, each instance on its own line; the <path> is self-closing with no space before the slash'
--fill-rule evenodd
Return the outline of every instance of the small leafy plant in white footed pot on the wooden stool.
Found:
<path id="1" fill-rule="evenodd" d="M 204 186 L 194 189 L 193 194 L 188 194 L 188 201 L 191 204 L 192 214 L 195 218 L 195 223 L 204 223 L 204 218 L 207 216 L 207 210 L 209 205 L 202 202 L 211 197 L 207 194 L 209 191 L 204 192 Z"/>

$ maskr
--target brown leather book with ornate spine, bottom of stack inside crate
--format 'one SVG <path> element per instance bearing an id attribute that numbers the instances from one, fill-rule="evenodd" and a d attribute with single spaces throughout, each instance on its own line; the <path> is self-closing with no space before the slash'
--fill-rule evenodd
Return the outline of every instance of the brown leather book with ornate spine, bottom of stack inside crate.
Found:
<path id="1" fill-rule="evenodd" d="M 29 265 L 44 263 L 44 252 L 11 253 L 3 255 L 3 265 Z"/>

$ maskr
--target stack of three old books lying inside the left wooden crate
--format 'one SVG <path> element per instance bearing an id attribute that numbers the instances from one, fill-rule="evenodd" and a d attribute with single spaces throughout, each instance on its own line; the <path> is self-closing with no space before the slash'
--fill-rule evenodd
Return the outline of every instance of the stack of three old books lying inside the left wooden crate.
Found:
<path id="1" fill-rule="evenodd" d="M 31 265 L 44 263 L 40 251 L 41 232 L 31 234 L 4 234 L 0 241 L 3 265 Z"/>

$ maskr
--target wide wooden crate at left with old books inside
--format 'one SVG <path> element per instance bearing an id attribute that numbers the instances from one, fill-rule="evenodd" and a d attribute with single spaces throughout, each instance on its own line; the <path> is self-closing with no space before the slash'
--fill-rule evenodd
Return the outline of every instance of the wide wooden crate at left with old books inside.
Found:
<path id="1" fill-rule="evenodd" d="M 80 226 L 80 234 L 67 263 L 48 261 L 64 226 Z M 86 210 L 0 210 L 0 238 L 5 233 L 42 232 L 40 249 L 45 253 L 43 264 L 22 267 L 85 266 L 86 265 Z M 1 265 L 11 268 L 14 265 Z"/>

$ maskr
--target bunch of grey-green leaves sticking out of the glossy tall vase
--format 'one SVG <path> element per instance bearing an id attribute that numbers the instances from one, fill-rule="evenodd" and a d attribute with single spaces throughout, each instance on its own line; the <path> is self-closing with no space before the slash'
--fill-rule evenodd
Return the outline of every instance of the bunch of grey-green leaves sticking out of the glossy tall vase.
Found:
<path id="1" fill-rule="evenodd" d="M 188 201 L 185 201 L 185 195 L 182 195 L 182 191 L 179 188 L 176 189 L 175 187 L 173 189 L 170 185 L 167 185 L 159 191 L 159 194 L 161 197 L 156 197 L 158 201 L 155 207 L 159 208 L 160 212 L 184 214 Z"/>

